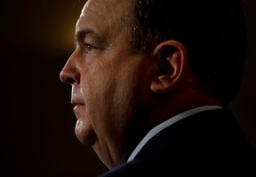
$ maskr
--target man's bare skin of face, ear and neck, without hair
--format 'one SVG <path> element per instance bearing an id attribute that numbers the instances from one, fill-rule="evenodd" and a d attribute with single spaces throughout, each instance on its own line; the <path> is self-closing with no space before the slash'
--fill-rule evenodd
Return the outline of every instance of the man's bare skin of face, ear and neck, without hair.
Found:
<path id="1" fill-rule="evenodd" d="M 60 73 L 72 86 L 77 139 L 92 145 L 108 168 L 124 163 L 165 119 L 218 103 L 206 103 L 194 91 L 180 42 L 166 41 L 143 53 L 132 50 L 124 25 L 129 5 L 129 0 L 89 0 L 76 23 L 76 50 Z"/>

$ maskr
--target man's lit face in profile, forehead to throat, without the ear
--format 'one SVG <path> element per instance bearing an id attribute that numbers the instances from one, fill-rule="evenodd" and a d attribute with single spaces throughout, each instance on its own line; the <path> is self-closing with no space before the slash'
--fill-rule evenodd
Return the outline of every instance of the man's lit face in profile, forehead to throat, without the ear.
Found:
<path id="1" fill-rule="evenodd" d="M 60 73 L 72 84 L 76 137 L 91 144 L 108 167 L 126 158 L 126 142 L 141 129 L 140 116 L 148 112 L 152 95 L 148 60 L 132 50 L 124 25 L 129 5 L 129 0 L 89 0 L 76 23 L 76 50 Z"/>

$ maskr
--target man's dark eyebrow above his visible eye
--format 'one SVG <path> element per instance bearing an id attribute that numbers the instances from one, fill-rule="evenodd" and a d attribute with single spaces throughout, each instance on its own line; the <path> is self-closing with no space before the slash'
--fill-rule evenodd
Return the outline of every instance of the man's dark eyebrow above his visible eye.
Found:
<path id="1" fill-rule="evenodd" d="M 94 30 L 90 28 L 84 28 L 76 32 L 75 35 L 75 46 L 77 42 L 83 42 L 86 36 L 90 36 L 93 39 L 93 42 L 96 42 L 100 46 L 106 45 L 106 37 L 103 37 L 97 34 Z"/>

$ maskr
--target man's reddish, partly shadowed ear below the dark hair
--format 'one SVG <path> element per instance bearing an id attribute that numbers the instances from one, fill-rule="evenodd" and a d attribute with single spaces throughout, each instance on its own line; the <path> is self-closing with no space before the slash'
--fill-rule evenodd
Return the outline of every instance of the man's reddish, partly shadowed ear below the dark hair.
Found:
<path id="1" fill-rule="evenodd" d="M 170 40 L 157 45 L 153 55 L 157 67 L 150 89 L 155 93 L 168 92 L 185 71 L 187 51 L 180 42 Z"/>

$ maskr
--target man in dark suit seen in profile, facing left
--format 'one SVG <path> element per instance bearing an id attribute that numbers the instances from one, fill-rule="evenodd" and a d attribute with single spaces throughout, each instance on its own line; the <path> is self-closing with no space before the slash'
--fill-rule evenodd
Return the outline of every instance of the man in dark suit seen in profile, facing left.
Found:
<path id="1" fill-rule="evenodd" d="M 239 0 L 88 0 L 60 79 L 102 176 L 255 176 L 227 109 L 245 51 Z"/>

